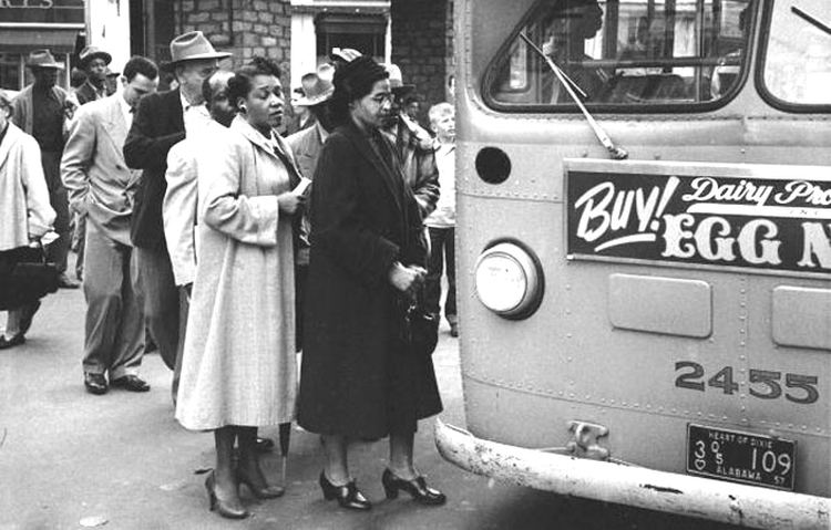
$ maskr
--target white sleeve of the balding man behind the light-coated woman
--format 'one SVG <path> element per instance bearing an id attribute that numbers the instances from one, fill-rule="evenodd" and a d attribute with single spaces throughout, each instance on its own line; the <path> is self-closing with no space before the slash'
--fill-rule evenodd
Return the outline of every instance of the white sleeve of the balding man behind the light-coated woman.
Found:
<path id="1" fill-rule="evenodd" d="M 167 190 L 162 202 L 164 237 L 176 285 L 193 283 L 196 277 L 194 230 L 198 186 L 196 159 L 189 147 L 187 141 L 179 142 L 167 153 Z"/>

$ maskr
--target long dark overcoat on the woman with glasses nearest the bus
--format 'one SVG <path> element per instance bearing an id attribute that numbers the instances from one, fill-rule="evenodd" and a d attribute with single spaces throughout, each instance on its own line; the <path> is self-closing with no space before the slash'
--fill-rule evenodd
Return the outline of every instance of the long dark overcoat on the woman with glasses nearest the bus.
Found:
<path id="1" fill-rule="evenodd" d="M 315 173 L 298 409 L 314 433 L 381 438 L 442 409 L 432 360 L 407 347 L 401 294 L 388 280 L 396 261 L 423 267 L 427 246 L 400 160 L 382 147 L 386 157 L 342 126 Z"/>

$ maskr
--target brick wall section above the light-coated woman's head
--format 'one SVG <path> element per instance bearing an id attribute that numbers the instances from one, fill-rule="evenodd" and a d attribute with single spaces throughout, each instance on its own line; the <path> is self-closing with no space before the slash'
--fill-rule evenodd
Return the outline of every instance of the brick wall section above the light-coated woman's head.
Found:
<path id="1" fill-rule="evenodd" d="M 291 46 L 289 0 L 176 0 L 178 33 L 199 30 L 217 50 L 234 54 L 234 66 L 254 55 L 280 64 L 288 82 Z"/>

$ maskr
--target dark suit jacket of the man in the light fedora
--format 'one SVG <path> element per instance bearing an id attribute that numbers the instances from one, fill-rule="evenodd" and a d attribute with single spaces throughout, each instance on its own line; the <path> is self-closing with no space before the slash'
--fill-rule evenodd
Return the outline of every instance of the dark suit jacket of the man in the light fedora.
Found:
<path id="1" fill-rule="evenodd" d="M 143 169 L 133 205 L 131 237 L 136 247 L 165 249 L 162 202 L 167 152 L 185 137 L 179 91 L 142 98 L 124 143 L 127 166 Z"/>

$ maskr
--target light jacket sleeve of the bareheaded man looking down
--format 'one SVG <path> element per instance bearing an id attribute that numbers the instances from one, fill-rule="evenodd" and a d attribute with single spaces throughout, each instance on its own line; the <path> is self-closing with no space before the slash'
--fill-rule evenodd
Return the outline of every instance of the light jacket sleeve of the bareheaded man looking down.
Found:
<path id="1" fill-rule="evenodd" d="M 61 179 L 69 195 L 70 208 L 86 212 L 90 195 L 88 170 L 95 154 L 95 123 L 90 107 L 81 107 L 70 122 L 69 138 L 61 158 Z"/>

